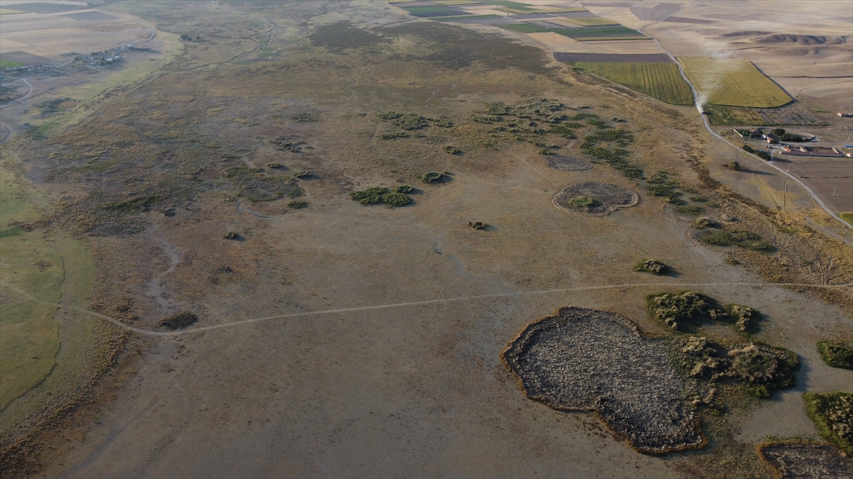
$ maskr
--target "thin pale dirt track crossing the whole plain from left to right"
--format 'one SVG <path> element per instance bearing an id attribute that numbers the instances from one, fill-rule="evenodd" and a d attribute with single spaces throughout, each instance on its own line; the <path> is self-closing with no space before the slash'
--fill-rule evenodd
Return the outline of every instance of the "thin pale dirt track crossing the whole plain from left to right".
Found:
<path id="1" fill-rule="evenodd" d="M 357 306 L 353 308 L 339 308 L 339 309 L 321 309 L 319 311 L 303 311 L 300 313 L 286 313 L 284 315 L 273 315 L 273 316 L 262 316 L 259 318 L 252 318 L 248 320 L 239 320 L 232 321 L 229 323 L 221 323 L 218 325 L 212 326 L 200 326 L 194 327 L 191 329 L 184 329 L 181 331 L 172 331 L 172 332 L 162 332 L 162 331 L 151 331 L 147 329 L 138 328 L 135 326 L 127 325 L 115 318 L 112 318 L 107 315 L 102 315 L 101 313 L 96 313 L 95 311 L 91 311 L 89 309 L 82 308 L 74 308 L 73 306 L 68 306 L 66 304 L 61 303 L 50 303 L 48 301 L 43 301 L 38 299 L 38 297 L 34 297 L 26 291 L 22 291 L 19 288 L 9 285 L 3 281 L 0 281 L 0 285 L 8 287 L 9 289 L 17 292 L 20 296 L 26 297 L 31 301 L 35 301 L 37 303 L 49 304 L 53 305 L 56 308 L 68 309 L 71 311 L 77 311 L 78 313 L 83 313 L 85 315 L 96 316 L 101 318 L 102 320 L 107 320 L 113 323 L 116 326 L 124 328 L 127 331 L 136 332 L 138 334 L 142 334 L 144 336 L 180 336 L 183 334 L 191 334 L 194 332 L 205 332 L 211 331 L 214 329 L 221 329 L 223 327 L 230 326 L 240 326 L 250 323 L 256 323 L 260 321 L 266 320 L 280 320 L 285 318 L 296 318 L 299 316 L 318 316 L 318 315 L 334 315 L 338 313 L 353 313 L 357 311 L 370 311 L 375 309 L 391 309 L 391 308 L 405 308 L 407 306 L 424 306 L 427 304 L 442 304 L 442 303 L 456 303 L 458 301 L 470 301 L 476 299 L 490 299 L 495 297 L 518 297 L 518 296 L 529 296 L 529 295 L 539 295 L 539 294 L 554 294 L 560 292 L 574 292 L 574 291 L 600 291 L 600 290 L 608 290 L 608 289 L 619 289 L 619 288 L 633 288 L 633 287 L 695 287 L 695 286 L 757 286 L 757 287 L 771 287 L 771 286 L 803 286 L 803 287 L 821 287 L 821 288 L 843 288 L 853 286 L 853 282 L 844 283 L 840 285 L 816 285 L 813 283 L 751 283 L 751 282 L 740 282 L 740 281 L 723 281 L 723 282 L 711 282 L 711 283 L 679 283 L 679 282 L 656 282 L 656 283 L 627 283 L 622 285 L 600 285 L 600 286 L 575 286 L 572 288 L 557 288 L 551 290 L 532 290 L 532 291 L 515 291 L 515 292 L 495 292 L 495 293 L 486 293 L 486 294 L 477 294 L 473 296 L 461 296 L 461 297 L 446 297 L 439 299 L 426 299 L 421 301 L 409 301 L 406 303 L 389 303 L 389 304 L 376 304 L 374 306 Z"/>

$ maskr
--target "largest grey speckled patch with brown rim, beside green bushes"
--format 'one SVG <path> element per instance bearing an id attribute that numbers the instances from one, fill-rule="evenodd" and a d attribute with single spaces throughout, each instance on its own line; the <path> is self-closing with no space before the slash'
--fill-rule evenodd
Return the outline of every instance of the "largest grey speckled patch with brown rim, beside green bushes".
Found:
<path id="1" fill-rule="evenodd" d="M 664 344 L 620 315 L 567 307 L 526 326 L 502 354 L 525 395 L 563 411 L 595 411 L 643 453 L 702 447 Z"/>

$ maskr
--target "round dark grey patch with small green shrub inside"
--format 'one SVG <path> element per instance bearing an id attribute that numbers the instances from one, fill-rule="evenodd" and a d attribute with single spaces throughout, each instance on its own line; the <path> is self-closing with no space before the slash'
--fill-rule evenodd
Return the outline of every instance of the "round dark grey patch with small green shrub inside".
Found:
<path id="1" fill-rule="evenodd" d="M 640 203 L 640 195 L 610 183 L 583 182 L 561 189 L 551 203 L 572 213 L 604 216 Z"/>

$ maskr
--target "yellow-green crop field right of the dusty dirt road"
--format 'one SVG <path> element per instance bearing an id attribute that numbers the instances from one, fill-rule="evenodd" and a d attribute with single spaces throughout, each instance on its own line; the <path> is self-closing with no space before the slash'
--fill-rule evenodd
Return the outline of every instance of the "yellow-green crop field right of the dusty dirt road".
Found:
<path id="1" fill-rule="evenodd" d="M 793 99 L 746 60 L 715 60 L 705 56 L 682 56 L 693 86 L 705 103 L 728 107 L 781 107 Z"/>

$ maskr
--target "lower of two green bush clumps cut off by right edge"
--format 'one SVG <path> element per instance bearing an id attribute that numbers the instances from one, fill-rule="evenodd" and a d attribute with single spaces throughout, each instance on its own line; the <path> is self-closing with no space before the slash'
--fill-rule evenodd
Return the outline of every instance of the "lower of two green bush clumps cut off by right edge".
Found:
<path id="1" fill-rule="evenodd" d="M 853 394 L 805 393 L 806 411 L 817 430 L 839 449 L 853 454 Z"/>

